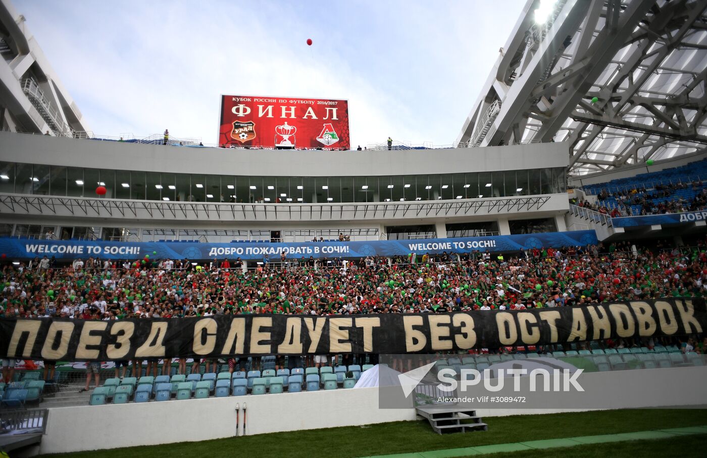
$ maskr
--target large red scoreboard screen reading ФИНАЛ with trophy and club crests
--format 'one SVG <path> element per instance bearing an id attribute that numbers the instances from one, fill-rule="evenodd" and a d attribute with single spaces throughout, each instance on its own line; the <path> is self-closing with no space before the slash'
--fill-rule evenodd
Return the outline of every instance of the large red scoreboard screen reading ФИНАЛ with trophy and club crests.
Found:
<path id="1" fill-rule="evenodd" d="M 222 95 L 218 144 L 350 150 L 349 101 Z"/>

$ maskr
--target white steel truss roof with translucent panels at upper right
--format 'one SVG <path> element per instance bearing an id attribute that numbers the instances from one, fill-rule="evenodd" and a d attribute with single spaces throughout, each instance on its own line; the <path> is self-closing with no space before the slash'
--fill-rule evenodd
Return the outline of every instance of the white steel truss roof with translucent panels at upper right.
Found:
<path id="1" fill-rule="evenodd" d="M 528 0 L 457 143 L 570 143 L 571 175 L 707 149 L 707 0 Z"/>

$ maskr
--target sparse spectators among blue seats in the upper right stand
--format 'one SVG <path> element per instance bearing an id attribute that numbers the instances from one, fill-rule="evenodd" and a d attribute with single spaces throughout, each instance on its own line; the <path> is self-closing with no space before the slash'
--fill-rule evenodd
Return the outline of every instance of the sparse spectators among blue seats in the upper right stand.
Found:
<path id="1" fill-rule="evenodd" d="M 676 196 L 675 191 L 691 188 L 696 192 L 691 199 Z M 665 200 L 665 198 L 668 198 Z M 597 203 L 580 200 L 575 205 L 585 207 L 611 217 L 636 216 L 631 207 L 640 206 L 640 215 L 663 215 L 665 213 L 696 212 L 707 209 L 707 188 L 702 181 L 691 183 L 656 184 L 653 188 L 630 188 L 609 193 L 602 189 L 597 194 Z"/>

